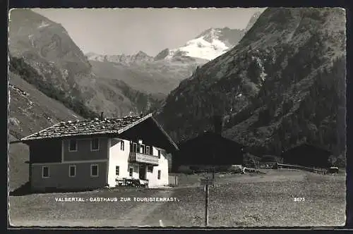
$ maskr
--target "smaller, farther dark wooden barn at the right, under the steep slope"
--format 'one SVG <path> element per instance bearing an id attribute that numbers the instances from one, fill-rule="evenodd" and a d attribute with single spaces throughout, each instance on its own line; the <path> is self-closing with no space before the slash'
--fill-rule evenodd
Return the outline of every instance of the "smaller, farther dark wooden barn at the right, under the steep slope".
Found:
<path id="1" fill-rule="evenodd" d="M 285 164 L 294 164 L 307 167 L 327 168 L 328 158 L 332 155 L 326 149 L 311 144 L 299 144 L 282 153 Z"/>

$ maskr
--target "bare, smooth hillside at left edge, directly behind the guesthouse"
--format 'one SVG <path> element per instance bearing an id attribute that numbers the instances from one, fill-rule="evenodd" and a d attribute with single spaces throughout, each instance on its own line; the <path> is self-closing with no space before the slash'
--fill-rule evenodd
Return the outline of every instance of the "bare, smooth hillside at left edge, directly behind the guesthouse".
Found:
<path id="1" fill-rule="evenodd" d="M 47 97 L 36 87 L 9 73 L 10 112 L 8 113 L 9 141 L 19 140 L 60 121 L 83 119 L 59 101 Z M 28 181 L 29 149 L 22 143 L 10 144 L 8 159 L 11 190 Z"/>

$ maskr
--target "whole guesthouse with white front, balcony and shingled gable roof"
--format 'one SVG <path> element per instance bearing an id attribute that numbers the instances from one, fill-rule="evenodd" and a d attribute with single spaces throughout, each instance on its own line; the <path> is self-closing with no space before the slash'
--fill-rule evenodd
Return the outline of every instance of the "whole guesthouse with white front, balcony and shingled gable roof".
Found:
<path id="1" fill-rule="evenodd" d="M 61 122 L 20 140 L 30 147 L 32 190 L 115 187 L 117 180 L 168 185 L 177 144 L 151 114 Z"/>

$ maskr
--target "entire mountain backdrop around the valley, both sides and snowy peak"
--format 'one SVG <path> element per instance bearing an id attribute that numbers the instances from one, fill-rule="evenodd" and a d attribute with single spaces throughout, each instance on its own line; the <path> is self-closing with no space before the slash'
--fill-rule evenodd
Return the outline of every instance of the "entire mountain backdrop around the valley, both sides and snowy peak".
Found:
<path id="1" fill-rule="evenodd" d="M 84 54 L 61 24 L 11 11 L 11 141 L 101 112 L 152 112 L 180 142 L 212 130 L 210 119 L 221 114 L 223 135 L 251 154 L 312 142 L 345 165 L 344 18 L 337 8 L 268 8 L 242 30 L 211 27 L 149 56 Z M 28 178 L 20 169 L 26 155 L 24 145 L 11 144 L 11 177 L 18 178 L 11 187 Z"/>

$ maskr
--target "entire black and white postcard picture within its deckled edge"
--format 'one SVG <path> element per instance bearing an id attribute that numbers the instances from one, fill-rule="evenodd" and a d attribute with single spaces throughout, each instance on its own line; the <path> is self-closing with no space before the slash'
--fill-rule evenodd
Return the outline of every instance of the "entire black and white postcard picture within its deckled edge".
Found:
<path id="1" fill-rule="evenodd" d="M 346 221 L 344 8 L 14 8 L 16 227 Z"/>

